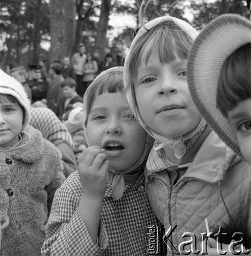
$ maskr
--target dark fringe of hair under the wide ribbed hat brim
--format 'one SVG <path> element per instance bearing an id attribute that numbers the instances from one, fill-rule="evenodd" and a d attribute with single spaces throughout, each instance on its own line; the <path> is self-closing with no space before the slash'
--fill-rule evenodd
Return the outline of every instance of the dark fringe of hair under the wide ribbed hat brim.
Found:
<path id="1" fill-rule="evenodd" d="M 218 79 L 216 106 L 228 118 L 238 102 L 251 98 L 251 43 L 225 59 Z"/>

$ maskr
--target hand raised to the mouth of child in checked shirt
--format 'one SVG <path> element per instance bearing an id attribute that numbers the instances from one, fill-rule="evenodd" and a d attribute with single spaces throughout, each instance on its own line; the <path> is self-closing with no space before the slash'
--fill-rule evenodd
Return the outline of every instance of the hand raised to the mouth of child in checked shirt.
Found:
<path id="1" fill-rule="evenodd" d="M 90 146 L 82 152 L 78 160 L 82 195 L 103 198 L 107 189 L 107 155 L 102 153 L 99 146 Z"/>

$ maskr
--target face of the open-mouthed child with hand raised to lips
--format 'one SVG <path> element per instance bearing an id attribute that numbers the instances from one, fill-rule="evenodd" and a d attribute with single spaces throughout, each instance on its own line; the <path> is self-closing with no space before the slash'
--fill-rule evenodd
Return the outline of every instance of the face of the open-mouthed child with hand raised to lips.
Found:
<path id="1" fill-rule="evenodd" d="M 146 140 L 146 132 L 121 93 L 95 97 L 88 116 L 87 136 L 90 146 L 105 148 L 109 167 L 114 170 L 132 166 L 142 155 Z"/>

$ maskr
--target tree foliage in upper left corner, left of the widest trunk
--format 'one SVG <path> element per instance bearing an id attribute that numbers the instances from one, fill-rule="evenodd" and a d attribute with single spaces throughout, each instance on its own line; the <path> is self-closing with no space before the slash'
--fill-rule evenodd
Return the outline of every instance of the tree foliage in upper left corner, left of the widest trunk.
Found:
<path id="1" fill-rule="evenodd" d="M 37 23 L 38 2 L 33 0 L 1 0 L 0 2 L 0 34 L 2 48 L 0 49 L 0 62 L 16 61 L 27 62 L 32 58 L 32 51 L 39 36 L 49 33 L 49 9 L 48 4 L 40 1 L 42 13 L 40 23 Z M 38 24 L 38 30 L 35 25 Z M 2 61 L 1 61 L 2 60 Z"/>

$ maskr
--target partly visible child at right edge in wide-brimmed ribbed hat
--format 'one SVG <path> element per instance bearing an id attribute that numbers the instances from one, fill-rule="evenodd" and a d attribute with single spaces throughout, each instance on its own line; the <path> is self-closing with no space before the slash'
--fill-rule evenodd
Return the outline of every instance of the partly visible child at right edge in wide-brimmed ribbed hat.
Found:
<path id="1" fill-rule="evenodd" d="M 244 158 L 251 165 L 251 21 L 237 14 L 212 20 L 195 39 L 187 67 L 189 90 L 198 110 L 228 145 L 226 150 L 231 148 L 232 162 L 241 163 Z M 242 177 L 242 193 L 249 198 L 248 212 L 251 190 L 250 184 L 244 184 L 250 175 L 243 176 L 243 167 L 236 170 L 237 175 Z M 249 239 L 250 222 L 246 223 Z"/>

